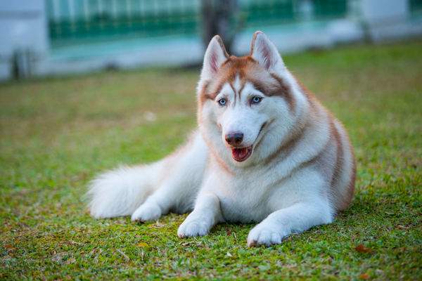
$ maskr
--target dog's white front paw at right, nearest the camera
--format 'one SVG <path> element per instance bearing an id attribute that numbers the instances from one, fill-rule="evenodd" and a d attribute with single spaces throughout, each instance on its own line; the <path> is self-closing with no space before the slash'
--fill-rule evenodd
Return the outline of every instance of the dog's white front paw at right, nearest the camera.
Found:
<path id="1" fill-rule="evenodd" d="M 258 224 L 255 228 L 250 230 L 248 235 L 248 246 L 257 247 L 265 245 L 265 247 L 270 247 L 274 244 L 281 244 L 281 240 L 283 240 L 285 235 L 278 229 L 261 224 L 262 223 Z"/>

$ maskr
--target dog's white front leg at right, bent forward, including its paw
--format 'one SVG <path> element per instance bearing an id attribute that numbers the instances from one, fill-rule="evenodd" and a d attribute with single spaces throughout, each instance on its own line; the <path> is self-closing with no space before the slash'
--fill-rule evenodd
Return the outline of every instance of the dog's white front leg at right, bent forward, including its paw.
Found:
<path id="1" fill-rule="evenodd" d="M 266 247 L 281 244 L 284 237 L 300 233 L 312 226 L 331 223 L 330 207 L 322 200 L 319 202 L 302 202 L 286 209 L 274 211 L 267 216 L 248 235 L 248 246 Z"/>

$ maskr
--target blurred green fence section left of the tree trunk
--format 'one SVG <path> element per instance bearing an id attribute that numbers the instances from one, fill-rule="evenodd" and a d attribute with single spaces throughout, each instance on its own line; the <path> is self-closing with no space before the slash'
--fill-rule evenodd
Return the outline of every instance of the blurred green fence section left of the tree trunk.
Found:
<path id="1" fill-rule="evenodd" d="M 53 43 L 196 34 L 199 0 L 47 0 Z"/>

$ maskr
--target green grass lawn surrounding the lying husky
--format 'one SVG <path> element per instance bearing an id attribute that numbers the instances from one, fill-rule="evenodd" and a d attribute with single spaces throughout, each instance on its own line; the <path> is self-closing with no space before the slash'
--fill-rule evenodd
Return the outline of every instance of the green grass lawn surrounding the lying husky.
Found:
<path id="1" fill-rule="evenodd" d="M 284 60 L 354 145 L 354 200 L 332 224 L 265 249 L 246 245 L 254 225 L 181 240 L 186 214 L 91 218 L 82 197 L 96 173 L 160 159 L 195 128 L 198 72 L 11 82 L 0 84 L 0 279 L 421 280 L 422 41 Z"/>

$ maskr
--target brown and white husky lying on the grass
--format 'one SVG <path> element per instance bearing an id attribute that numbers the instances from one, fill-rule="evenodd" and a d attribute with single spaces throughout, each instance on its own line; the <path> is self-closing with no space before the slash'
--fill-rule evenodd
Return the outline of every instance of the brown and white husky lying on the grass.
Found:
<path id="1" fill-rule="evenodd" d="M 121 167 L 91 182 L 95 218 L 156 221 L 191 211 L 179 237 L 221 222 L 257 222 L 248 245 L 331 223 L 353 197 L 356 164 L 347 132 L 288 72 L 256 32 L 243 58 L 216 36 L 198 83 L 198 130 L 169 157 Z"/>

